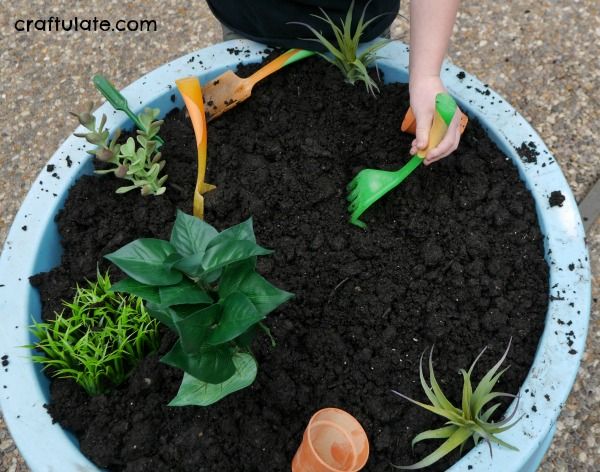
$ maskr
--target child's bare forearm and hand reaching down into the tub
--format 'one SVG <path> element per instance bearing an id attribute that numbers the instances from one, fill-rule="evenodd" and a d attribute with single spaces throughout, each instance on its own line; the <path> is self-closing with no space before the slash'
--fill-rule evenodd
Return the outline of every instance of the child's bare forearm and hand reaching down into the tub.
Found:
<path id="1" fill-rule="evenodd" d="M 417 120 L 417 136 L 411 154 L 427 147 L 433 120 L 435 96 L 446 89 L 440 69 L 448 50 L 459 0 L 412 0 L 410 2 L 410 105 Z M 425 165 L 453 152 L 460 141 L 460 113 L 452 121 L 440 144 L 429 151 Z"/>

